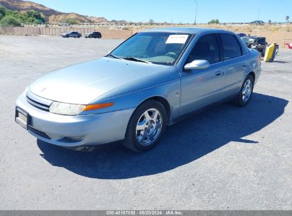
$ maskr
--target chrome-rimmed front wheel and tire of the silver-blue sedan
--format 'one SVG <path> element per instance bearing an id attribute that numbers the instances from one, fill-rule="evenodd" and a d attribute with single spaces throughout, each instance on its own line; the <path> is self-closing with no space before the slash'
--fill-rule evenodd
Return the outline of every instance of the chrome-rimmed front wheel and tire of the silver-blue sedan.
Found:
<path id="1" fill-rule="evenodd" d="M 141 104 L 129 121 L 124 146 L 136 152 L 156 146 L 166 130 L 166 117 L 166 109 L 161 102 L 149 100 Z"/>

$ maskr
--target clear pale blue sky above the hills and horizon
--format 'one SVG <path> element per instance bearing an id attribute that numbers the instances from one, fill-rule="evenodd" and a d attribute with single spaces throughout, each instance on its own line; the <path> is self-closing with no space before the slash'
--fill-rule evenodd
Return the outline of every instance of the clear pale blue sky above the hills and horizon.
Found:
<path id="1" fill-rule="evenodd" d="M 111 20 L 194 23 L 195 0 L 31 0 L 61 12 Z M 197 23 L 217 18 L 221 23 L 292 21 L 292 0 L 197 0 Z"/>

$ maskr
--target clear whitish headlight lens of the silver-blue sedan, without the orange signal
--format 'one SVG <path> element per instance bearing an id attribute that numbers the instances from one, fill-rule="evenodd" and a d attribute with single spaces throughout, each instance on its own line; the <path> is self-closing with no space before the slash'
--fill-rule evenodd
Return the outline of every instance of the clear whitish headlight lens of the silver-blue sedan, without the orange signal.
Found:
<path id="1" fill-rule="evenodd" d="M 55 114 L 64 114 L 68 116 L 75 116 L 80 114 L 83 109 L 85 109 L 85 105 L 78 105 L 78 104 L 64 104 L 59 102 L 53 102 L 50 105 L 50 112 Z"/>

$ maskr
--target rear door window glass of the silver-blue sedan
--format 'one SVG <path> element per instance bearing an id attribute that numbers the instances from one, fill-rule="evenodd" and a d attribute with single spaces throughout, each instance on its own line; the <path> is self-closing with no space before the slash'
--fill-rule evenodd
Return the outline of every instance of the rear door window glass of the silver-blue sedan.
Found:
<path id="1" fill-rule="evenodd" d="M 242 49 L 237 39 L 231 34 L 220 34 L 223 46 L 223 59 L 229 60 L 242 55 Z"/>

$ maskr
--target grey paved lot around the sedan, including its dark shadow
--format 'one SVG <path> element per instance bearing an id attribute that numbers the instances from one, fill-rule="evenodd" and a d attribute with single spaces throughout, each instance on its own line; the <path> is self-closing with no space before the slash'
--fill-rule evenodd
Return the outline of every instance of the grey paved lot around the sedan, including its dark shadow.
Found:
<path id="1" fill-rule="evenodd" d="M 280 50 L 249 106 L 223 104 L 169 127 L 153 151 L 72 151 L 13 122 L 36 78 L 121 41 L 0 36 L 0 209 L 291 210 L 292 52 Z"/>

